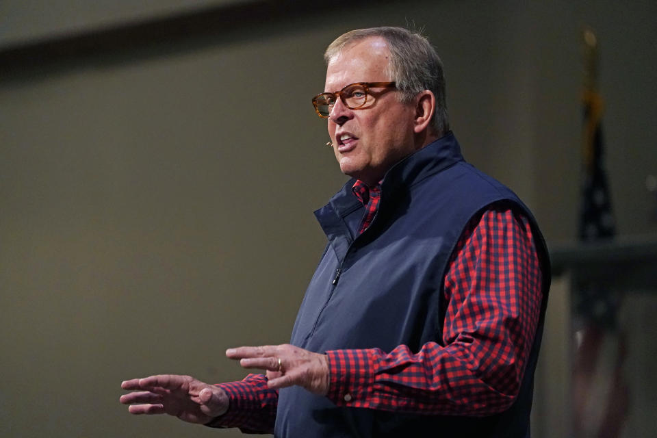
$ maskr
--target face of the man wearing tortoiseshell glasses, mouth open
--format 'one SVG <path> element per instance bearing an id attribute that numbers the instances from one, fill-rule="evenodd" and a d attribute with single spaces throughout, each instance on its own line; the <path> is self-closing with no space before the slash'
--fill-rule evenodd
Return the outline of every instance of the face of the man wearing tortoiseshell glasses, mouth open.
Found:
<path id="1" fill-rule="evenodd" d="M 387 76 L 389 56 L 381 38 L 347 46 L 329 62 L 324 90 L 336 92 L 355 82 L 391 81 Z M 415 108 L 411 103 L 400 103 L 394 89 L 373 88 L 370 93 L 365 107 L 356 110 L 337 99 L 328 120 L 340 170 L 374 185 L 392 165 L 415 150 Z"/>

